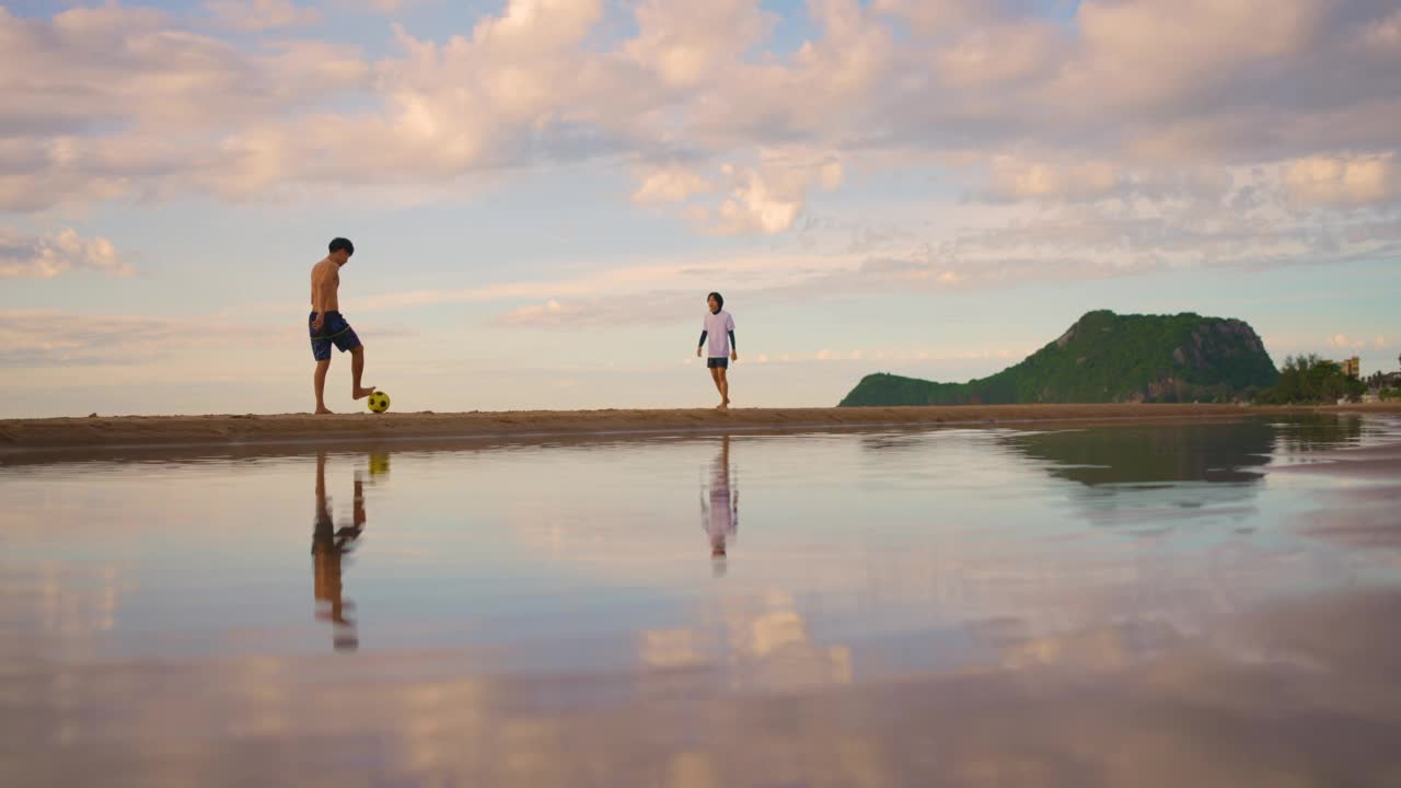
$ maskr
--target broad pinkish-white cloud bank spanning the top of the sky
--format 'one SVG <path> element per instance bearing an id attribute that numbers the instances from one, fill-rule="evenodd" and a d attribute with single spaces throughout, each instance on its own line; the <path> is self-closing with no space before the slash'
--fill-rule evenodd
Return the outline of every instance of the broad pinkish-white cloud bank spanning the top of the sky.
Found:
<path id="1" fill-rule="evenodd" d="M 248 27 L 310 21 L 290 0 L 214 1 Z M 639 205 L 773 236 L 870 161 L 955 161 L 986 177 L 975 195 L 1038 210 L 894 250 L 906 280 L 1395 250 L 1360 213 L 1398 196 L 1386 4 L 1087 0 L 1052 24 L 1017 0 L 814 0 L 810 41 L 783 52 L 752 1 L 646 0 L 635 35 L 601 39 L 608 8 L 510 0 L 457 35 L 395 28 L 375 62 L 340 41 L 235 45 L 147 8 L 0 8 L 0 210 L 448 189 L 605 158 L 675 163 L 636 170 Z M 556 296 L 572 294 L 530 297 Z"/>

